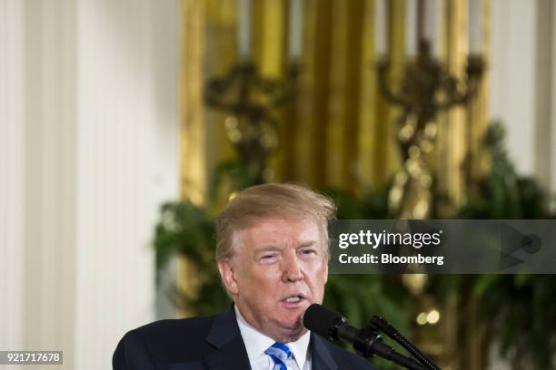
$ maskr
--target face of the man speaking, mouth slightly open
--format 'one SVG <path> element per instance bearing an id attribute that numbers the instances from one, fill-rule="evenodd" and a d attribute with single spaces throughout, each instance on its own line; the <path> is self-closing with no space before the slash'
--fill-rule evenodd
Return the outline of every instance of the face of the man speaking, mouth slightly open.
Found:
<path id="1" fill-rule="evenodd" d="M 242 316 L 276 341 L 297 340 L 306 331 L 305 309 L 323 303 L 328 277 L 327 246 L 316 222 L 260 219 L 236 232 L 234 247 L 218 268 Z"/>

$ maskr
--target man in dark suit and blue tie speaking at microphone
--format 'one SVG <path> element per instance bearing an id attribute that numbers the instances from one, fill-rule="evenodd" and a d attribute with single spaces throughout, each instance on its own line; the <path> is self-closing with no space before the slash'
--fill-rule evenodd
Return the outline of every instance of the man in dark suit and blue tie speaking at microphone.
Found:
<path id="1" fill-rule="evenodd" d="M 128 332 L 114 370 L 374 369 L 303 326 L 323 302 L 331 200 L 293 184 L 239 193 L 217 219 L 216 262 L 233 307 Z"/>

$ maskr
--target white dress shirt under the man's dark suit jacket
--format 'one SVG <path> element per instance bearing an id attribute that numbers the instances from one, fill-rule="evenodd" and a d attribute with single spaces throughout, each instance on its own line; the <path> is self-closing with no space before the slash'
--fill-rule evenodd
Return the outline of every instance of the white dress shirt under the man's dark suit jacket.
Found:
<path id="1" fill-rule="evenodd" d="M 270 355 L 266 355 L 264 351 L 268 347 L 273 346 L 276 342 L 273 338 L 265 336 L 253 326 L 249 325 L 243 318 L 242 314 L 235 309 L 235 317 L 237 318 L 237 325 L 243 337 L 243 343 L 247 349 L 247 356 L 249 363 L 253 370 L 273 370 L 274 363 Z M 311 332 L 303 334 L 295 342 L 284 343 L 292 350 L 292 357 L 286 363 L 288 370 L 311 370 L 311 351 L 309 351 L 309 340 L 311 339 Z"/>

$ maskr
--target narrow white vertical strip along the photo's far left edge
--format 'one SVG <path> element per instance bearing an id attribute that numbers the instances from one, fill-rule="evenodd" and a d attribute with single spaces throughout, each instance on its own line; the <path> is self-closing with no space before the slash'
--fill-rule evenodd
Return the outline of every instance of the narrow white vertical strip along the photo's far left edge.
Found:
<path id="1" fill-rule="evenodd" d="M 24 259 L 24 8 L 0 2 L 0 348 L 22 348 Z"/>

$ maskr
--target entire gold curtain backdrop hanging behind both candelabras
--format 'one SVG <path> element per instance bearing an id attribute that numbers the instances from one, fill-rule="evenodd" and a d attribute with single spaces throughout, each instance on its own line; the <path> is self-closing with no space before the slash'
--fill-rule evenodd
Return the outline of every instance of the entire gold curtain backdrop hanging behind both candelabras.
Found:
<path id="1" fill-rule="evenodd" d="M 204 107 L 202 84 L 237 61 L 235 0 L 183 0 L 182 134 L 183 195 L 198 198 L 219 161 L 233 158 L 224 127 L 226 115 Z M 467 1 L 442 2 L 442 60 L 462 76 L 467 53 Z M 488 18 L 489 2 L 482 2 Z M 253 0 L 253 61 L 264 76 L 287 78 L 288 5 Z M 297 180 L 317 189 L 378 188 L 400 166 L 393 124 L 399 114 L 377 89 L 374 68 L 374 0 L 304 0 L 303 60 L 297 99 L 281 112 L 279 150 L 269 163 L 273 180 Z M 388 2 L 392 64 L 404 62 L 405 1 Z M 483 22 L 483 24 L 486 24 Z M 484 27 L 483 41 L 488 41 Z M 488 42 L 483 42 L 485 55 Z M 487 55 L 488 56 L 488 55 Z M 487 58 L 488 60 L 488 58 Z M 454 108 L 438 117 L 438 173 L 442 190 L 462 201 L 462 163 L 479 141 L 486 122 L 486 79 L 471 109 Z M 466 115 L 469 111 L 471 115 Z M 478 177 L 485 161 L 472 161 Z M 195 188 L 195 189 L 194 189 Z"/>

